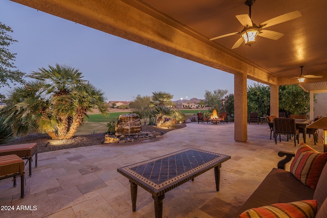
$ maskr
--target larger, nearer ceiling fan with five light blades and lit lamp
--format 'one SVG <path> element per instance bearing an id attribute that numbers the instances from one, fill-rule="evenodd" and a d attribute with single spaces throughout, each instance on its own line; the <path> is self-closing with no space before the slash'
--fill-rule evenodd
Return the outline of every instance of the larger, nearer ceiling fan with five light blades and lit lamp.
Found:
<path id="1" fill-rule="evenodd" d="M 225 35 L 211 38 L 210 40 L 212 41 L 212 40 L 223 38 L 226 36 L 240 34 L 241 38 L 239 40 L 237 40 L 237 42 L 232 46 L 231 49 L 236 49 L 243 42 L 245 42 L 246 45 L 251 46 L 252 44 L 255 43 L 255 38 L 257 35 L 268 38 L 268 39 L 277 40 L 277 39 L 281 38 L 282 36 L 284 36 L 284 34 L 278 33 L 275 31 L 271 31 L 271 30 L 263 30 L 263 29 L 302 16 L 299 11 L 293 11 L 293 12 L 289 12 L 287 14 L 283 14 L 281 16 L 277 16 L 272 19 L 269 19 L 265 22 L 260 23 L 260 25 L 257 26 L 251 20 L 251 6 L 253 5 L 254 2 L 255 2 L 255 0 L 246 0 L 246 2 L 245 2 L 245 5 L 249 6 L 249 15 L 247 15 L 247 14 L 236 15 L 236 18 L 241 22 L 241 24 L 244 27 L 244 29 L 241 32 L 228 33 Z"/>

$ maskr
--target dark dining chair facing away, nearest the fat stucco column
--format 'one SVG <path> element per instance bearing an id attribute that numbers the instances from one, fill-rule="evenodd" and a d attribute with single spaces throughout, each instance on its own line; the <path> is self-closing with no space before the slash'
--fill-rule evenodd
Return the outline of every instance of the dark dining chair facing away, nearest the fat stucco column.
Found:
<path id="1" fill-rule="evenodd" d="M 299 143 L 299 131 L 296 129 L 295 119 L 293 118 L 274 118 L 273 120 L 274 126 L 274 138 L 275 144 L 277 144 L 277 135 L 279 135 L 279 142 L 281 142 L 281 135 L 287 136 L 287 141 L 289 137 L 294 136 L 294 147 L 296 147 L 296 139 L 297 143 Z"/>

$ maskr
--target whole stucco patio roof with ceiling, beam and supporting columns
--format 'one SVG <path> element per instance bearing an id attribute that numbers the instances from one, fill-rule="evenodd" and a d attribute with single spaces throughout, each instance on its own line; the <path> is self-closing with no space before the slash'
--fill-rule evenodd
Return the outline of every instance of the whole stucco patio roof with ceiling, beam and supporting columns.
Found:
<path id="1" fill-rule="evenodd" d="M 246 79 L 271 86 L 271 113 L 278 114 L 278 86 L 299 84 L 300 65 L 306 74 L 327 82 L 327 1 L 257 1 L 252 19 L 262 22 L 298 10 L 300 18 L 269 28 L 285 34 L 278 40 L 260 37 L 251 47 L 231 50 L 239 36 L 209 39 L 240 31 L 235 15 L 248 13 L 244 0 L 12 0 L 82 25 L 235 75 L 235 140 L 247 140 Z M 316 16 L 313 16 L 316 15 Z M 311 86 L 311 85 L 310 85 Z M 324 90 L 325 86 L 322 87 Z"/>

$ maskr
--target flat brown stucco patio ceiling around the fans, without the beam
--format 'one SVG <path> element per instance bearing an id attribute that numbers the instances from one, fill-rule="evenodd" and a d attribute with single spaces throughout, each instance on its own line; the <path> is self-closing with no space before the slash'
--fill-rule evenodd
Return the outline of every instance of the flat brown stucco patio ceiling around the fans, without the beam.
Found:
<path id="1" fill-rule="evenodd" d="M 177 20 L 206 38 L 242 31 L 243 26 L 235 15 L 249 14 L 245 0 L 193 0 L 156 1 L 144 0 L 144 4 Z M 267 28 L 285 34 L 278 40 L 258 37 L 251 47 L 241 45 L 231 50 L 239 35 L 215 40 L 231 52 L 259 65 L 280 78 L 303 74 L 324 75 L 327 80 L 327 1 L 257 0 L 251 7 L 251 18 L 259 23 L 273 17 L 300 11 L 301 17 Z M 310 82 L 321 79 L 308 79 Z M 307 81 L 307 82 L 308 82 Z M 296 82 L 296 81 L 295 81 Z"/>

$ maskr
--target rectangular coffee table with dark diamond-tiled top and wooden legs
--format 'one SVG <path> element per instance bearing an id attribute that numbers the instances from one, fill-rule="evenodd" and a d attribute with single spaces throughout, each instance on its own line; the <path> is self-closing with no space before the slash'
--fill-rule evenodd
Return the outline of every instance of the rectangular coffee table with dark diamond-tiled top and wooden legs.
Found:
<path id="1" fill-rule="evenodd" d="M 195 177 L 215 168 L 216 190 L 219 191 L 220 167 L 230 156 L 188 148 L 150 160 L 118 168 L 130 182 L 132 210 L 136 211 L 137 186 L 152 194 L 156 218 L 162 217 L 162 200 L 165 192 L 194 180 Z"/>

